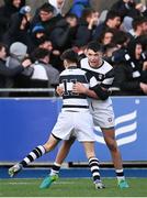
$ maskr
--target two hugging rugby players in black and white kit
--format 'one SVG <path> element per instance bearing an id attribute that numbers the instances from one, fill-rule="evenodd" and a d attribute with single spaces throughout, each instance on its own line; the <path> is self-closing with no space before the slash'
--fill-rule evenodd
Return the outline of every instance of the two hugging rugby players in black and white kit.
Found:
<path id="1" fill-rule="evenodd" d="M 99 172 L 99 160 L 94 152 L 94 125 L 101 128 L 104 141 L 110 150 L 117 177 L 117 186 L 120 188 L 128 187 L 115 140 L 114 112 L 109 97 L 109 88 L 114 79 L 114 70 L 109 63 L 102 59 L 102 48 L 98 43 L 91 42 L 88 44 L 86 56 L 80 61 L 81 68 L 79 68 L 78 54 L 74 50 L 67 50 L 63 53 L 61 59 L 64 61 L 65 70 L 60 74 L 57 88 L 57 92 L 63 97 L 61 112 L 48 141 L 44 145 L 35 147 L 22 162 L 9 168 L 11 177 L 31 162 L 54 150 L 58 142 L 63 140 L 54 166 L 39 186 L 42 189 L 48 188 L 52 183 L 57 180 L 61 163 L 77 139 L 83 144 L 95 188 L 104 188 Z M 90 99 L 88 100 L 88 98 Z"/>

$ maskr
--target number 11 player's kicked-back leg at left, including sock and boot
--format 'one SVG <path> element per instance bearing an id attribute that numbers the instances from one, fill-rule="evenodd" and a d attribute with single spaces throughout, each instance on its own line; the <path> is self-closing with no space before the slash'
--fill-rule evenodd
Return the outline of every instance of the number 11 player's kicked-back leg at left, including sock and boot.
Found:
<path id="1" fill-rule="evenodd" d="M 29 155 L 26 155 L 20 163 L 9 168 L 10 177 L 13 177 L 23 167 L 27 166 L 30 163 L 34 162 L 36 158 L 54 150 L 54 147 L 57 145 L 58 142 L 59 142 L 59 139 L 50 134 L 48 141 L 44 145 L 38 145 L 32 152 L 30 152 Z"/>

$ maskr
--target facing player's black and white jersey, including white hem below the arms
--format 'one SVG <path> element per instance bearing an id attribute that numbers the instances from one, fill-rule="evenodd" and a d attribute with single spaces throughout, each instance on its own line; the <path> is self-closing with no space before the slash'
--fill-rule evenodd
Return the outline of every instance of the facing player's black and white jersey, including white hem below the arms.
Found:
<path id="1" fill-rule="evenodd" d="M 114 69 L 113 67 L 105 61 L 103 61 L 102 65 L 98 68 L 92 68 L 89 65 L 88 58 L 83 58 L 80 62 L 80 66 L 83 70 L 90 73 L 92 76 L 95 77 L 98 85 L 103 88 L 109 89 L 114 80 Z M 112 106 L 112 100 L 109 97 L 106 100 L 95 100 L 91 99 L 92 107 L 97 109 L 109 109 Z"/>

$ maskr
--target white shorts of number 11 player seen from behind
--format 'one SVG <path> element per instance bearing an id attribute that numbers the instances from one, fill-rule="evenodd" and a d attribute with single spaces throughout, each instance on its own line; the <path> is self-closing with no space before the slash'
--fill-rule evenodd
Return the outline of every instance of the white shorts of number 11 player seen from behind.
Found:
<path id="1" fill-rule="evenodd" d="M 92 116 L 89 111 L 61 111 L 52 134 L 61 140 L 76 136 L 79 142 L 94 142 Z"/>

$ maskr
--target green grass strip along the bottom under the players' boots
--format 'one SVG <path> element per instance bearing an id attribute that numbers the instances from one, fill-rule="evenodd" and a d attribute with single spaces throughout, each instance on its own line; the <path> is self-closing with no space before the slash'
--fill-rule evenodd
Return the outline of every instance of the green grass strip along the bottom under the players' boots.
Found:
<path id="1" fill-rule="evenodd" d="M 147 178 L 128 179 L 129 188 L 118 189 L 116 179 L 103 179 L 105 189 L 95 190 L 90 179 L 59 179 L 39 189 L 41 179 L 0 179 L 0 197 L 146 197 Z"/>

